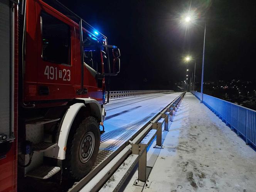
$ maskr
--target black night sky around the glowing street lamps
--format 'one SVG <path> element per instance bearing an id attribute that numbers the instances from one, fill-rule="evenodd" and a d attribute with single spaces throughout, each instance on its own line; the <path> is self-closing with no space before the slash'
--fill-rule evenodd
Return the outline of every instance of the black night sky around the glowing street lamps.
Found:
<path id="1" fill-rule="evenodd" d="M 255 80 L 255 0 L 62 0 L 121 52 L 121 72 L 111 90 L 175 89 L 197 62 L 200 81 L 205 40 L 205 81 Z M 187 30 L 180 18 L 188 10 L 198 19 Z"/>

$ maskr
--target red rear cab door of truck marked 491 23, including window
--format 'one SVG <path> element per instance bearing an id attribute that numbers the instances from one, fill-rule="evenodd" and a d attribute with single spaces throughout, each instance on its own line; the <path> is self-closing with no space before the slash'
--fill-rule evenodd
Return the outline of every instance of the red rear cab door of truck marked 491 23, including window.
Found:
<path id="1" fill-rule="evenodd" d="M 74 26 L 54 9 L 37 3 L 36 10 L 39 100 L 74 98 Z"/>

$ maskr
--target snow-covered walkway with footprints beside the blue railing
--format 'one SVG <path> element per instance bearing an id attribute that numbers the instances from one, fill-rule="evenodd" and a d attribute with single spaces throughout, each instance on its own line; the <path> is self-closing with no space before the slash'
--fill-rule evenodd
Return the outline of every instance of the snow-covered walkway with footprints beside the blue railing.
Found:
<path id="1" fill-rule="evenodd" d="M 150 187 L 133 185 L 136 171 L 125 192 L 256 191 L 256 152 L 192 94 L 163 138 Z M 148 149 L 148 160 L 153 153 Z"/>

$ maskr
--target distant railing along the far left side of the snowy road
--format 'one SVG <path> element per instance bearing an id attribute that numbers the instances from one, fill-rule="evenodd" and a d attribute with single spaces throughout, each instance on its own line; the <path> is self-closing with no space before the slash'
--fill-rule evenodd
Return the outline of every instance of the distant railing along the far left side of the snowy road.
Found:
<path id="1" fill-rule="evenodd" d="M 133 90 L 133 91 L 109 91 L 109 99 L 135 97 L 153 93 L 173 92 L 173 90 Z M 108 95 L 108 92 L 106 92 Z"/>

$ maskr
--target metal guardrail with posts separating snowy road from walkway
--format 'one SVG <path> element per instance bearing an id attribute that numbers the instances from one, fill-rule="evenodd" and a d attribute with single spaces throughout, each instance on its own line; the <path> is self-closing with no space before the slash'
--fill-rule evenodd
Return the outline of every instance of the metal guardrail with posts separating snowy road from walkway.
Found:
<path id="1" fill-rule="evenodd" d="M 131 136 L 128 141 L 123 143 L 115 152 L 111 153 L 111 155 L 104 160 L 104 163 L 97 165 L 88 175 L 74 184 L 73 187 L 69 189 L 69 192 L 78 190 L 99 191 L 114 173 L 119 174 L 119 180 L 117 180 L 117 178 L 114 179 L 115 186 L 111 185 L 111 191 L 118 191 L 131 173 L 131 170 L 136 166 L 136 163 L 139 163 L 138 182 L 143 182 L 147 186 L 147 147 L 155 136 L 157 136 L 155 148 L 163 147 L 162 125 L 164 123 L 164 130 L 168 131 L 169 118 L 170 121 L 173 120 L 172 116 L 175 115 L 175 111 L 179 108 L 184 95 L 185 92 L 180 94 L 163 108 L 162 111 L 157 113 L 157 115 Z M 117 171 L 119 168 L 121 171 Z"/>

